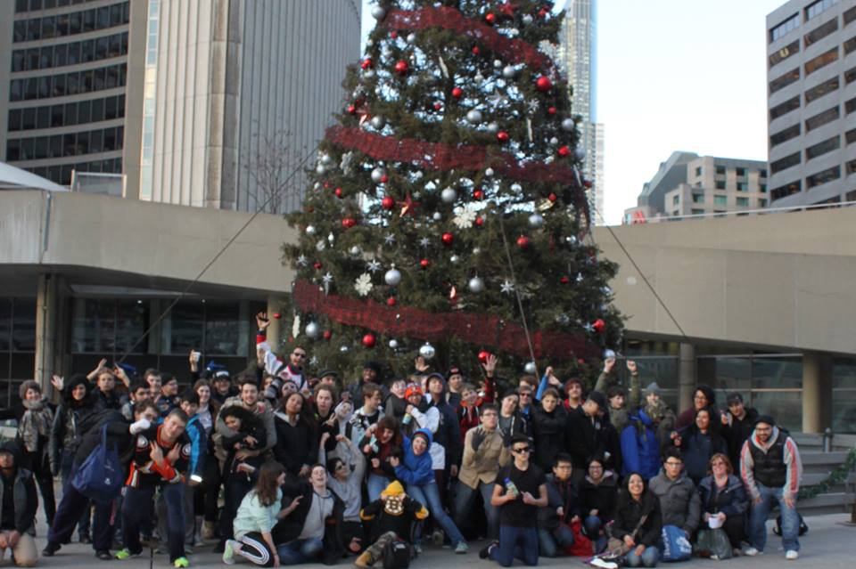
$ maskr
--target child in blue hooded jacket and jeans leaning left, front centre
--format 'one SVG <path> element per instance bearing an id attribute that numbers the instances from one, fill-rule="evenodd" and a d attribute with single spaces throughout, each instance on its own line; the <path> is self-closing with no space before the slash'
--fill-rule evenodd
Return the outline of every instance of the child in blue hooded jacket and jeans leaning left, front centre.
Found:
<path id="1" fill-rule="evenodd" d="M 449 536 L 449 541 L 455 548 L 455 553 L 466 553 L 468 547 L 464 536 L 452 519 L 443 510 L 440 501 L 440 490 L 434 478 L 431 459 L 432 434 L 428 429 L 419 429 L 413 434 L 413 438 L 404 437 L 404 457 L 398 459 L 392 457 L 390 464 L 395 467 L 395 476 L 405 484 L 407 495 L 418 500 L 428 508 L 434 520 Z M 420 541 L 419 530 L 416 533 L 416 543 Z"/>

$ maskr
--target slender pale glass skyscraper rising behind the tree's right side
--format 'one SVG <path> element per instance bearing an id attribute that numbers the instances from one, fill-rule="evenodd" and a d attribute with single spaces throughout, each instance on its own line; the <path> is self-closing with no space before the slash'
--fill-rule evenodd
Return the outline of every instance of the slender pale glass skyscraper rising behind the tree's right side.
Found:
<path id="1" fill-rule="evenodd" d="M 572 89 L 575 115 L 580 115 L 584 173 L 592 182 L 589 204 L 597 224 L 604 214 L 604 126 L 597 123 L 597 0 L 568 0 L 559 38 L 558 62 Z"/>

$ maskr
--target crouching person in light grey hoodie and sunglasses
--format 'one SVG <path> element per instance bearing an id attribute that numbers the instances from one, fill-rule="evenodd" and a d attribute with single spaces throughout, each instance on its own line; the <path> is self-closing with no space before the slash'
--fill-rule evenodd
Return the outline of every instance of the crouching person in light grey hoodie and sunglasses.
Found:
<path id="1" fill-rule="evenodd" d="M 345 435 L 336 435 L 336 441 L 348 448 L 348 453 L 327 459 L 325 443 L 329 433 L 321 435 L 318 443 L 318 459 L 327 466 L 327 485 L 342 499 L 342 543 L 350 553 L 359 553 L 363 541 L 363 524 L 359 519 L 359 508 L 362 505 L 362 484 L 366 474 L 366 457 L 354 443 Z"/>

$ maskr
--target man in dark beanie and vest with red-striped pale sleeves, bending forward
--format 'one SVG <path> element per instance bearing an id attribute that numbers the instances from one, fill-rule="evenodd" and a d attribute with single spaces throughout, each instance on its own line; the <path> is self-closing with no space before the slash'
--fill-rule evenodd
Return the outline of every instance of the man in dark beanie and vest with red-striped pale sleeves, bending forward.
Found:
<path id="1" fill-rule="evenodd" d="M 800 516 L 796 500 L 800 492 L 802 459 L 794 439 L 776 427 L 772 417 L 762 415 L 755 420 L 755 428 L 740 453 L 740 477 L 749 499 L 752 500 L 749 516 L 748 556 L 763 552 L 767 545 L 767 518 L 778 506 L 782 514 L 782 546 L 785 558 L 799 557 Z"/>

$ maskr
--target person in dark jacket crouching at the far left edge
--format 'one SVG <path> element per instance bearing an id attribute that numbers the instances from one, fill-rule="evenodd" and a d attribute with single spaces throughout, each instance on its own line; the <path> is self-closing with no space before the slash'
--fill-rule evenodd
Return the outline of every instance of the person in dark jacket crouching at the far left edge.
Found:
<path id="1" fill-rule="evenodd" d="M 38 499 L 33 473 L 19 466 L 21 451 L 16 443 L 0 444 L 0 560 L 12 549 L 15 565 L 36 565 L 38 551 L 30 534 L 36 519 Z"/>

